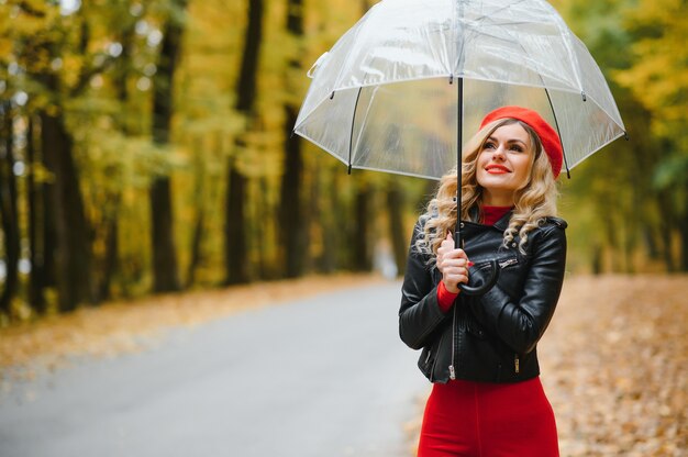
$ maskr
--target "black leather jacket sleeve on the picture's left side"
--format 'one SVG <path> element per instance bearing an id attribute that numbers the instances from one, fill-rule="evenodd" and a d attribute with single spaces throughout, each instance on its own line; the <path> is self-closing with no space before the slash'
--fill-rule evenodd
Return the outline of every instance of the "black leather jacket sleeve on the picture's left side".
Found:
<path id="1" fill-rule="evenodd" d="M 421 233 L 419 222 L 411 237 L 399 309 L 399 335 L 413 349 L 426 346 L 429 336 L 446 317 L 437 303 L 437 287 L 426 265 L 428 257 L 414 247 Z"/>

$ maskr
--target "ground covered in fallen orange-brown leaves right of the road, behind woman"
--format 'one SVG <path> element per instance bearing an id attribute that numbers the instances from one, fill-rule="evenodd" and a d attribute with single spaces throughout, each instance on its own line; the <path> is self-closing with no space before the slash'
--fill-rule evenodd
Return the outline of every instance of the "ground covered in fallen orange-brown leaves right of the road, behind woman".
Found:
<path id="1" fill-rule="evenodd" d="M 562 457 L 688 456 L 687 328 L 687 276 L 566 279 L 537 346 Z"/>

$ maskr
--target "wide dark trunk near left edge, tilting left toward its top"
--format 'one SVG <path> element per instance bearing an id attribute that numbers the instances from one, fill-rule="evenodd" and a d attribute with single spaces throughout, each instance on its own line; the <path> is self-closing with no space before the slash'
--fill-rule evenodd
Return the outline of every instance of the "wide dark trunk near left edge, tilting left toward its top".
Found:
<path id="1" fill-rule="evenodd" d="M 80 302 L 95 301 L 90 230 L 73 157 L 73 141 L 62 112 L 56 115 L 41 112 L 41 126 L 45 165 L 55 179 L 49 185 L 54 220 L 45 223 L 55 225 L 59 310 L 73 311 Z"/>

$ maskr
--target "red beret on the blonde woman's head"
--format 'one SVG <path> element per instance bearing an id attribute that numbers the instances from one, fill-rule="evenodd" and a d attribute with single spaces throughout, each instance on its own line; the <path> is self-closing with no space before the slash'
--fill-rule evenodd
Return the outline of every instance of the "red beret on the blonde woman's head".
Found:
<path id="1" fill-rule="evenodd" d="M 521 107 L 501 107 L 496 109 L 495 111 L 489 112 L 485 116 L 485 119 L 480 123 L 480 129 L 482 129 L 486 124 L 489 124 L 490 122 L 497 121 L 499 119 L 517 119 L 530 125 L 530 127 L 535 131 L 537 136 L 540 136 L 542 146 L 550 157 L 550 164 L 552 165 L 554 178 L 559 176 L 559 172 L 562 171 L 562 160 L 564 159 L 564 153 L 562 149 L 559 135 L 557 135 L 556 131 L 552 129 L 552 125 L 547 124 L 547 122 L 545 122 L 545 120 L 542 119 L 540 114 L 537 114 L 533 110 Z"/>

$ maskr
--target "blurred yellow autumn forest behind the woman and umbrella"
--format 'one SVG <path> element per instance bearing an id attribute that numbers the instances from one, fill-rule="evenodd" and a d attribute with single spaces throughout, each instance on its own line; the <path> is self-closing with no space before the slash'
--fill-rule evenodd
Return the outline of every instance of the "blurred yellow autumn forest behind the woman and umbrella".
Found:
<path id="1" fill-rule="evenodd" d="M 434 182 L 291 130 L 367 0 L 0 0 L 2 323 L 143 294 L 401 272 Z M 562 179 L 574 272 L 688 270 L 688 3 L 556 0 L 630 141 Z M 395 268 L 396 265 L 396 268 Z"/>

